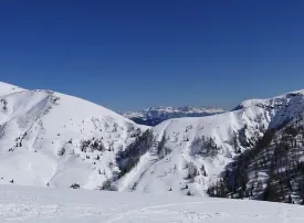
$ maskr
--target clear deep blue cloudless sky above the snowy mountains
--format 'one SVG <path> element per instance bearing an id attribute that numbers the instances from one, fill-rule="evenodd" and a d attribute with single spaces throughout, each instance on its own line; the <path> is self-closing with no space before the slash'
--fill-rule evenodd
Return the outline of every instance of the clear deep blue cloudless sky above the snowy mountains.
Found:
<path id="1" fill-rule="evenodd" d="M 304 88 L 303 0 L 13 0 L 0 81 L 112 109 L 231 108 Z"/>

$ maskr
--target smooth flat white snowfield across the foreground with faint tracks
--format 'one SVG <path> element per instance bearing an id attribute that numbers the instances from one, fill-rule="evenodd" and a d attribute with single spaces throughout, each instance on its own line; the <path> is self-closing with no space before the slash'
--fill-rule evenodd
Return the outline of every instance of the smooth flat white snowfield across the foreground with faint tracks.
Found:
<path id="1" fill-rule="evenodd" d="M 0 222 L 300 223 L 296 205 L 85 190 L 0 185 Z"/>

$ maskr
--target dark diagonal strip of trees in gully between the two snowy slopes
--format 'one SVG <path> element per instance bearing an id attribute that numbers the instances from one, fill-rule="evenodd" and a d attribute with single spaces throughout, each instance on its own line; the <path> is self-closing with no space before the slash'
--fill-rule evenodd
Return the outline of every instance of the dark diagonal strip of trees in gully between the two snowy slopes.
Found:
<path id="1" fill-rule="evenodd" d="M 139 161 L 139 158 L 146 153 L 155 144 L 153 130 L 148 129 L 143 135 L 137 136 L 135 141 L 125 150 L 117 153 L 116 162 L 119 167 L 118 178 L 129 172 Z"/>

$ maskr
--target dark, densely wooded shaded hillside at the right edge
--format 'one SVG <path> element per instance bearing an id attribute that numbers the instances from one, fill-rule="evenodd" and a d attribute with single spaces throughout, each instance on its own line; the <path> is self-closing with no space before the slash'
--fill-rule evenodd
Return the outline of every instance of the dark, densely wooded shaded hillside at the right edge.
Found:
<path id="1" fill-rule="evenodd" d="M 211 197 L 304 204 L 303 146 L 304 128 L 298 121 L 269 129 L 207 192 Z M 266 173 L 266 178 L 259 173 Z"/>

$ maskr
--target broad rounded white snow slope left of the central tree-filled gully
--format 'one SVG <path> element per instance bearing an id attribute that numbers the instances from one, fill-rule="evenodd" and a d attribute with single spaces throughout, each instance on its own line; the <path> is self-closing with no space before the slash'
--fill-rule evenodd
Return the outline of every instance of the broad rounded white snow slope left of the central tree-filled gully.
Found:
<path id="1" fill-rule="evenodd" d="M 2 86 L 2 85 L 1 85 Z M 17 88 L 15 88 L 17 89 Z M 117 171 L 116 152 L 147 129 L 104 107 L 51 91 L 0 96 L 0 183 L 86 189 Z"/>

